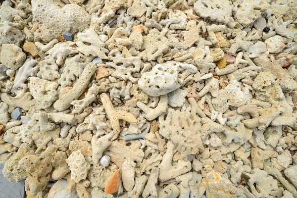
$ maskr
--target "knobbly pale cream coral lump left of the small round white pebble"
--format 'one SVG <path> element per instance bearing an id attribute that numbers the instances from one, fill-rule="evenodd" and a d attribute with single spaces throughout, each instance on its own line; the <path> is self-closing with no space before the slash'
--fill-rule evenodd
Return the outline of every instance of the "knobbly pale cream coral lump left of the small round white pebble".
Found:
<path id="1" fill-rule="evenodd" d="M 66 162 L 71 171 L 71 179 L 76 183 L 87 178 L 90 164 L 86 162 L 84 155 L 78 151 L 74 151 L 66 159 Z"/>

